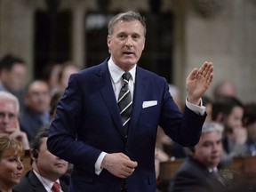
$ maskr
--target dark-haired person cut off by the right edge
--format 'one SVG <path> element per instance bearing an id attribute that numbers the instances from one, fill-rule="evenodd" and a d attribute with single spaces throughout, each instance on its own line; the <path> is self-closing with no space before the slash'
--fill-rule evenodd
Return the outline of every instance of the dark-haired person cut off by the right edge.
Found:
<path id="1" fill-rule="evenodd" d="M 247 130 L 246 146 L 251 156 L 256 156 L 256 103 L 244 106 L 243 124 Z"/>

